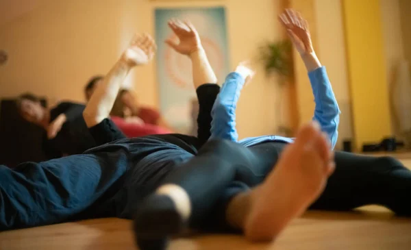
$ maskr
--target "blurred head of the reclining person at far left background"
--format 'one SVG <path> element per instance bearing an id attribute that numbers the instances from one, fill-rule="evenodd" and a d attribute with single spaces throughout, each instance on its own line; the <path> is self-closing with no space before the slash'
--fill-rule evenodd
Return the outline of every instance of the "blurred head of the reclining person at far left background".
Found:
<path id="1" fill-rule="evenodd" d="M 31 93 L 20 95 L 16 101 L 17 110 L 26 121 L 41 124 L 47 114 L 40 99 Z"/>

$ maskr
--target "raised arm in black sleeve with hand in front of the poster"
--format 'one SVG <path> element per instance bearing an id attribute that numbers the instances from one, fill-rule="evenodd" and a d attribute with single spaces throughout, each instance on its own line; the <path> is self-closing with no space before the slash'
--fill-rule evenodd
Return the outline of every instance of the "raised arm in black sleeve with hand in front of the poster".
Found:
<path id="1" fill-rule="evenodd" d="M 188 21 L 171 20 L 169 27 L 179 38 L 179 42 L 172 39 L 166 40 L 177 53 L 187 55 L 192 63 L 192 82 L 199 99 L 199 116 L 197 118 L 197 137 L 206 142 L 210 138 L 212 105 L 219 93 L 220 87 L 216 84 L 217 77 L 208 61 L 206 51 L 201 45 L 200 36 Z"/>

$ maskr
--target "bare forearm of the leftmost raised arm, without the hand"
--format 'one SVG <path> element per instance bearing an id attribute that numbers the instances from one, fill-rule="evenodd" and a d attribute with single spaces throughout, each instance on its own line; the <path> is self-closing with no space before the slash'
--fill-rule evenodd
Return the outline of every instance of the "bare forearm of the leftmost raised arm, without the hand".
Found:
<path id="1" fill-rule="evenodd" d="M 83 112 L 87 127 L 93 127 L 108 118 L 129 69 L 127 63 L 119 60 L 104 77 L 103 82 L 97 86 Z"/>

